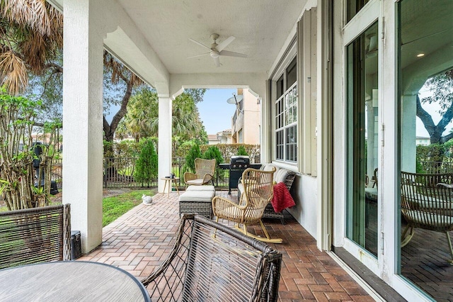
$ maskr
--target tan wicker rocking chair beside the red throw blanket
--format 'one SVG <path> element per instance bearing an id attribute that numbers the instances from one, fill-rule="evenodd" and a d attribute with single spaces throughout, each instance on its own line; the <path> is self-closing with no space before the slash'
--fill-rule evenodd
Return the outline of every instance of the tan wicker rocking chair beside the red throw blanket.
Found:
<path id="1" fill-rule="evenodd" d="M 263 221 L 261 221 L 266 206 L 273 198 L 274 172 L 275 168 L 271 171 L 246 169 L 242 174 L 243 192 L 239 203 L 219 196 L 212 199 L 212 211 L 214 216 L 217 216 L 217 221 L 219 218 L 234 221 L 236 228 L 245 235 L 264 242 L 282 243 L 281 238 L 270 238 Z M 257 223 L 261 225 L 265 237 L 247 232 L 247 225 Z M 240 225 L 242 225 L 242 228 Z"/>

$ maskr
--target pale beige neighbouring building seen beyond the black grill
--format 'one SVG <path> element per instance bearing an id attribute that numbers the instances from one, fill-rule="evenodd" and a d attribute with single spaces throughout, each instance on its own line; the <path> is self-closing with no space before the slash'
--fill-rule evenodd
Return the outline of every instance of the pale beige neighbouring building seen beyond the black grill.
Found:
<path id="1" fill-rule="evenodd" d="M 238 89 L 241 96 L 231 118 L 231 143 L 260 144 L 260 99 L 250 91 Z"/>

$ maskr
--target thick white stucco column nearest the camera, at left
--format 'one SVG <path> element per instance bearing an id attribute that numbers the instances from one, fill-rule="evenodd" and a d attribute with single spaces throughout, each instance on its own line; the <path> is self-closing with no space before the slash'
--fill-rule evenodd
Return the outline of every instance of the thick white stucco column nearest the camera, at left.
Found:
<path id="1" fill-rule="evenodd" d="M 95 1 L 64 1 L 63 203 L 82 252 L 102 241 L 103 34 Z"/>

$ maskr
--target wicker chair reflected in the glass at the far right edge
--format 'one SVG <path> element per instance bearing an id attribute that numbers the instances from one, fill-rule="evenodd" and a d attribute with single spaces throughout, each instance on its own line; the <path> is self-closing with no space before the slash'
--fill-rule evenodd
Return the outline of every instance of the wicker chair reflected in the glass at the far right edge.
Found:
<path id="1" fill-rule="evenodd" d="M 411 241 L 415 228 L 445 233 L 453 264 L 453 174 L 401 172 L 401 213 L 407 222 L 401 247 Z"/>

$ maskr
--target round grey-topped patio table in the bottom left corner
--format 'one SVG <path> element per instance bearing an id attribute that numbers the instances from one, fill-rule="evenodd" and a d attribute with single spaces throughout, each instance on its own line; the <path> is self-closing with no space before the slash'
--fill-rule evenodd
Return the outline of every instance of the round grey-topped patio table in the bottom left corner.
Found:
<path id="1" fill-rule="evenodd" d="M 0 270 L 1 301 L 151 301 L 132 274 L 112 265 L 64 261 Z"/>

